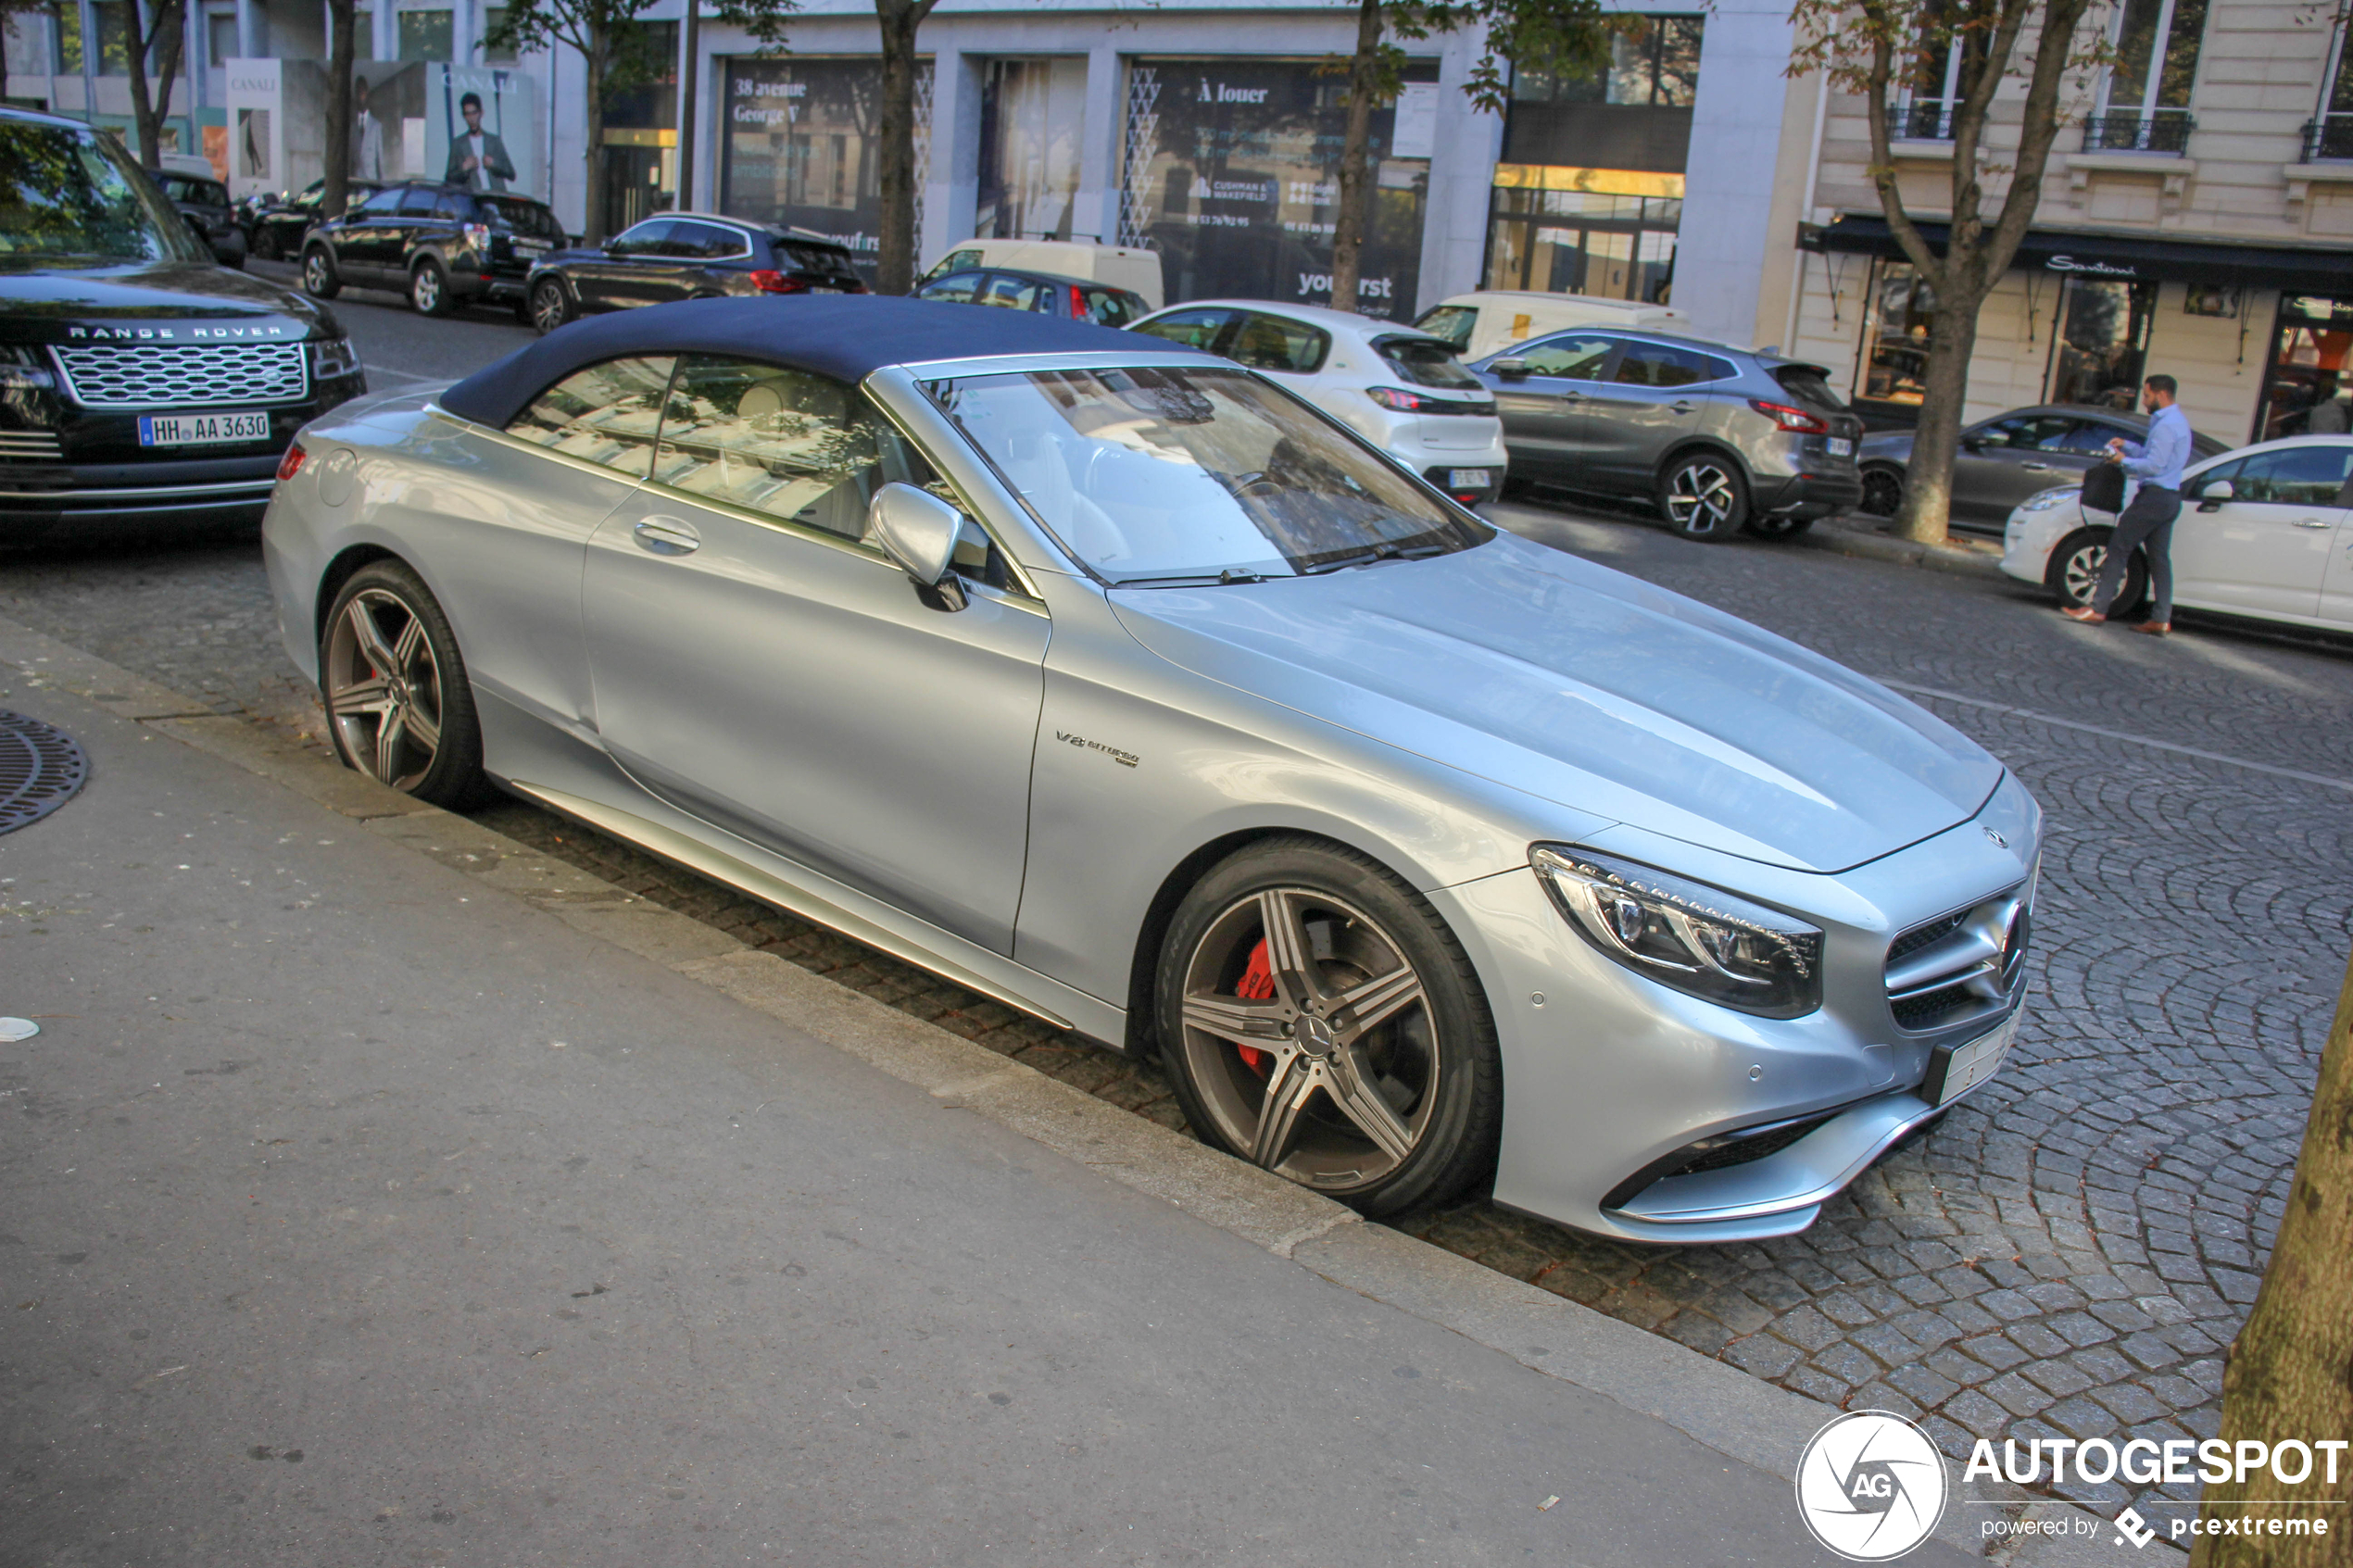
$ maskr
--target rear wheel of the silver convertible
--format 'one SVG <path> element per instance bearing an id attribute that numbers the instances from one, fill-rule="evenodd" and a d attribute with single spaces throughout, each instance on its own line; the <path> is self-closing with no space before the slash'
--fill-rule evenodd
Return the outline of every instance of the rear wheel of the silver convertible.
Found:
<path id="1" fill-rule="evenodd" d="M 344 766 L 452 811 L 482 802 L 482 729 L 449 618 L 400 562 L 360 567 L 318 639 L 327 733 Z"/>

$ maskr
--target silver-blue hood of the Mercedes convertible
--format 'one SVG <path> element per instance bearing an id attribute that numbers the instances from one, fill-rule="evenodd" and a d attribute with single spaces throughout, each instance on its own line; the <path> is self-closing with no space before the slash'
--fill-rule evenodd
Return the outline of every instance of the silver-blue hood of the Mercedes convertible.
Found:
<path id="1" fill-rule="evenodd" d="M 1967 820 L 1974 741 L 1746 621 L 1515 536 L 1424 562 L 1111 592 L 1158 656 L 1435 762 L 1833 872 Z"/>

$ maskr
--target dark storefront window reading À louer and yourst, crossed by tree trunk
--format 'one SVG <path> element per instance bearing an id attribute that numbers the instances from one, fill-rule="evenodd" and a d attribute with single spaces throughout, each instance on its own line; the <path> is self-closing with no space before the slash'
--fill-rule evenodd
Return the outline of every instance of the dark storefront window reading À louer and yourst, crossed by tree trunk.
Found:
<path id="1" fill-rule="evenodd" d="M 1407 68 L 1407 80 L 1433 68 Z M 1169 299 L 1332 301 L 1346 61 L 1139 59 L 1127 68 L 1120 244 L 1160 252 Z M 1372 113 L 1372 223 L 1355 308 L 1402 320 L 1421 277 L 1428 158 Z"/>

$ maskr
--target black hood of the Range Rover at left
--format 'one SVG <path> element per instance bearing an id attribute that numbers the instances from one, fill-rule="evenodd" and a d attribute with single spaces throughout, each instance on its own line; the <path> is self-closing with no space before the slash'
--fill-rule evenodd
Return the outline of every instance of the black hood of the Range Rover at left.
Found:
<path id="1" fill-rule="evenodd" d="M 344 336 L 315 299 L 209 261 L 0 270 L 0 341 L 216 343 Z"/>

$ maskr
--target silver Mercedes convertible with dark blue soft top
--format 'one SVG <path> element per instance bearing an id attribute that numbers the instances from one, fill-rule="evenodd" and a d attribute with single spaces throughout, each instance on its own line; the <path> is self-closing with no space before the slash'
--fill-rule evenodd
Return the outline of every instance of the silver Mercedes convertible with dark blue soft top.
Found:
<path id="1" fill-rule="evenodd" d="M 313 423 L 266 543 L 351 766 L 1158 1051 L 1367 1213 L 1802 1229 L 2026 985 L 2000 762 L 1134 334 L 598 317 Z"/>

